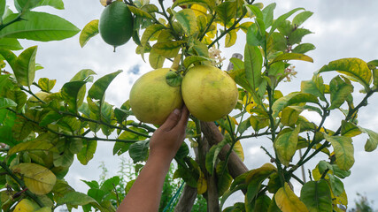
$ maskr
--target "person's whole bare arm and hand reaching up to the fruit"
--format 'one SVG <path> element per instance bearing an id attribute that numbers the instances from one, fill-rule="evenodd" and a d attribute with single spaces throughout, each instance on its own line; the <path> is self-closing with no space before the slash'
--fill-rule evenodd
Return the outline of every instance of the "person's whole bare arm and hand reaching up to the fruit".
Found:
<path id="1" fill-rule="evenodd" d="M 166 173 L 182 141 L 189 111 L 174 110 L 150 138 L 150 155 L 134 185 L 120 203 L 118 212 L 158 211 Z"/>

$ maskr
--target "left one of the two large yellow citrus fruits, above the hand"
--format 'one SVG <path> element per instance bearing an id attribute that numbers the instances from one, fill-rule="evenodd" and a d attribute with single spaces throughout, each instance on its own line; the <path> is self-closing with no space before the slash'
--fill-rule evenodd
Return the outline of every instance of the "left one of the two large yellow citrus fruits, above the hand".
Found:
<path id="1" fill-rule="evenodd" d="M 161 125 L 174 109 L 181 109 L 181 88 L 166 83 L 169 70 L 161 68 L 147 72 L 131 87 L 130 106 L 138 120 Z"/>

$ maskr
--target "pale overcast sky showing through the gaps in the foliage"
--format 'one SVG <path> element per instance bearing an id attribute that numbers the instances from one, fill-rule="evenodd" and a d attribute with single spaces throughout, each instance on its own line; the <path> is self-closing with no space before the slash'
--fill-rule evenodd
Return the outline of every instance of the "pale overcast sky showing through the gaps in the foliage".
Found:
<path id="1" fill-rule="evenodd" d="M 12 1 L 7 0 L 10 4 Z M 170 2 L 170 1 L 166 1 Z M 262 1 L 263 4 L 270 4 L 274 1 Z M 312 72 L 317 71 L 323 64 L 343 58 L 359 57 L 363 60 L 370 61 L 378 59 L 378 1 L 363 0 L 285 0 L 276 1 L 277 7 L 274 17 L 277 18 L 291 9 L 304 7 L 307 11 L 313 11 L 312 17 L 305 22 L 303 27 L 310 29 L 313 34 L 307 35 L 304 42 L 312 42 L 316 49 L 308 55 L 313 58 L 314 63 L 295 62 L 297 78 L 290 83 L 283 83 L 280 87 L 282 92 L 287 95 L 289 92 L 300 90 L 300 80 L 311 79 Z M 65 1 L 66 10 L 58 11 L 50 8 L 43 8 L 44 11 L 57 14 L 65 19 L 70 20 L 79 28 L 84 27 L 90 20 L 99 19 L 104 7 L 97 0 L 80 0 Z M 239 46 L 231 49 L 222 49 L 223 56 L 229 59 L 232 53 L 239 52 L 243 54 L 243 36 L 240 34 Z M 22 42 L 24 48 L 35 45 L 35 42 Z M 98 77 L 110 72 L 123 70 L 124 72 L 112 82 L 106 92 L 106 101 L 116 107 L 128 99 L 128 91 L 140 74 L 151 70 L 149 64 L 144 64 L 140 56 L 135 54 L 136 45 L 128 42 L 126 45 L 117 49 L 116 53 L 112 52 L 112 47 L 105 44 L 100 36 L 90 40 L 87 45 L 81 49 L 79 44 L 79 34 L 73 38 L 61 42 L 37 42 L 38 53 L 36 61 L 44 66 L 44 69 L 36 73 L 36 78 L 47 77 L 58 79 L 54 91 L 62 87 L 63 84 L 71 79 L 76 72 L 81 69 L 92 69 L 98 74 Z M 226 62 L 227 66 L 228 62 Z M 141 72 L 135 74 L 130 72 L 139 67 Z M 98 78 L 96 78 L 98 79 Z M 328 82 L 327 82 L 328 83 Z M 355 85 L 358 91 L 361 87 Z M 362 95 L 356 94 L 359 98 Z M 359 99 L 357 97 L 357 99 Z M 378 116 L 374 104 L 378 102 L 377 95 L 373 95 L 367 109 L 360 110 L 359 125 L 378 132 Z M 318 122 L 320 117 L 307 113 L 312 121 Z M 336 117 L 340 117 L 336 114 Z M 333 118 L 328 120 L 326 127 L 335 128 L 339 125 L 339 119 Z M 355 160 L 351 168 L 351 177 L 343 180 L 348 194 L 350 207 L 354 206 L 354 200 L 357 198 L 356 193 L 365 193 L 369 200 L 378 202 L 378 169 L 374 163 L 378 161 L 377 150 L 372 153 L 364 151 L 366 136 L 355 137 Z M 269 147 L 270 143 L 266 140 L 243 140 L 245 154 L 245 163 L 249 169 L 255 169 L 263 163 L 268 162 L 268 157 L 259 148 L 261 145 Z M 98 142 L 95 158 L 89 162 L 89 165 L 83 166 L 75 162 L 66 176 L 76 190 L 86 192 L 88 187 L 80 179 L 97 180 L 101 173 L 97 169 L 100 162 L 104 162 L 108 167 L 110 176 L 116 174 L 120 159 L 112 156 L 113 143 Z M 272 148 L 268 148 L 272 150 Z M 126 156 L 126 155 L 125 155 Z M 319 159 L 327 160 L 326 157 Z M 312 170 L 316 164 L 308 163 L 305 169 Z M 295 185 L 296 186 L 296 185 Z M 296 191 L 298 191 L 297 186 Z M 237 200 L 239 199 L 239 200 Z M 232 201 L 243 201 L 238 196 L 232 197 Z M 229 202 L 230 204 L 232 202 Z M 377 206 L 377 204 L 375 204 Z"/>

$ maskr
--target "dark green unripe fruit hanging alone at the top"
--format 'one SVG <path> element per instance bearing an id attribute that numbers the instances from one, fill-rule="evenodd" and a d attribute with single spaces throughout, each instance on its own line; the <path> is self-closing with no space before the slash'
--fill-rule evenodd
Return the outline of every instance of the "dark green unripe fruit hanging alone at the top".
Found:
<path id="1" fill-rule="evenodd" d="M 98 29 L 104 42 L 117 47 L 130 40 L 134 19 L 123 2 L 113 2 L 101 13 Z"/>

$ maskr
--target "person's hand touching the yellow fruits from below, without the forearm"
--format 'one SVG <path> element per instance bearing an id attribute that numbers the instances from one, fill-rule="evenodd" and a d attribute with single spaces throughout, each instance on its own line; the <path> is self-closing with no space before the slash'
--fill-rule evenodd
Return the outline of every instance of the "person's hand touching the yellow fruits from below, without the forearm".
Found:
<path id="1" fill-rule="evenodd" d="M 175 109 L 150 138 L 149 157 L 156 156 L 170 163 L 185 139 L 188 119 L 189 110 L 185 106 L 181 110 Z"/>

